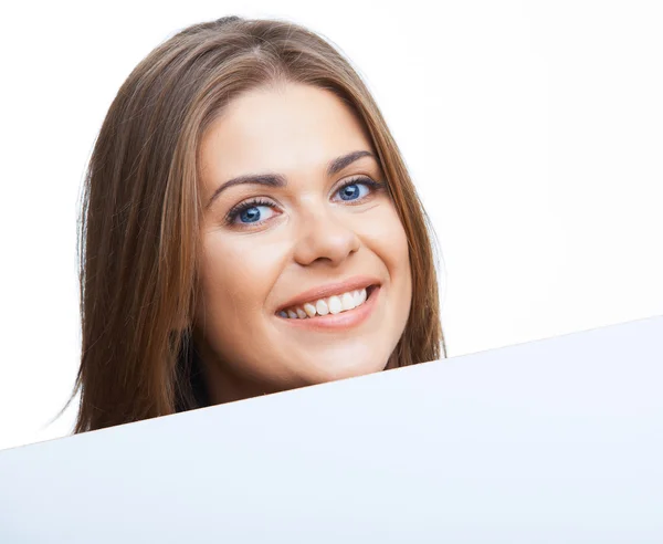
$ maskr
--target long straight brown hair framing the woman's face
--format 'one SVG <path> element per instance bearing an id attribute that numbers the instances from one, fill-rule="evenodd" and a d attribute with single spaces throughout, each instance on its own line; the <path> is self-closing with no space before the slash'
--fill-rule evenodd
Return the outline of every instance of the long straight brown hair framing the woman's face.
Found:
<path id="1" fill-rule="evenodd" d="M 182 30 L 143 60 L 119 88 L 95 143 L 80 223 L 75 432 L 197 406 L 190 354 L 200 142 L 233 97 L 278 81 L 335 93 L 372 139 L 412 271 L 410 315 L 389 366 L 439 359 L 441 348 L 446 356 L 430 223 L 361 79 L 334 46 L 302 27 L 223 18 Z"/>

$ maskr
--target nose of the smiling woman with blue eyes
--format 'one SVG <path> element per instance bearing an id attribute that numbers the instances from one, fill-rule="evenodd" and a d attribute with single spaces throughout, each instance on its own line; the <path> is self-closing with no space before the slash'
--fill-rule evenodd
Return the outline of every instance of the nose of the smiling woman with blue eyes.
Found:
<path id="1" fill-rule="evenodd" d="M 315 207 L 299 218 L 295 245 L 298 264 L 328 261 L 337 265 L 359 249 L 359 237 L 341 215 L 328 207 Z"/>

